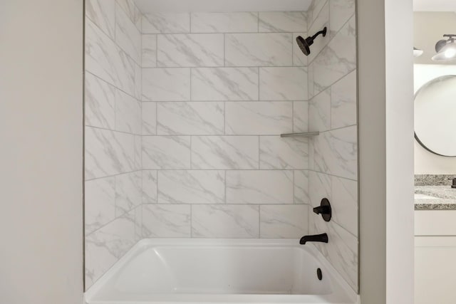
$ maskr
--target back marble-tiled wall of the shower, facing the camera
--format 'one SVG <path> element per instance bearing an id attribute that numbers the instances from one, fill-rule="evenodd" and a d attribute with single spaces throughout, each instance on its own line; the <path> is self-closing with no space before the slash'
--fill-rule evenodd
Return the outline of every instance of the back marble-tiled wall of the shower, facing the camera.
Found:
<path id="1" fill-rule="evenodd" d="M 142 17 L 142 237 L 308 231 L 304 12 Z M 131 126 L 130 126 L 131 127 Z"/>

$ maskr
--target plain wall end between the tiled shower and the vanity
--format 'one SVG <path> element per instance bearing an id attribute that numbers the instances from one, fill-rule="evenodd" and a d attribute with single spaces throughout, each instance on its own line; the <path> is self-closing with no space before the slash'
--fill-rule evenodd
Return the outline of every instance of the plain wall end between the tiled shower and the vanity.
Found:
<path id="1" fill-rule="evenodd" d="M 413 303 L 412 6 L 358 0 L 360 291 L 368 304 Z"/>

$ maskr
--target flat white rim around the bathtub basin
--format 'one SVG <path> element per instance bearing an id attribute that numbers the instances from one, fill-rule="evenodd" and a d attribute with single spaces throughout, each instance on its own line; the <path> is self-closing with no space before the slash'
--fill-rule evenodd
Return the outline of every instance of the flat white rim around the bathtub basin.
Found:
<path id="1" fill-rule="evenodd" d="M 206 239 L 206 238 L 192 238 L 192 239 L 181 239 L 181 238 L 155 238 L 155 239 L 141 239 L 135 245 L 130 248 L 130 250 L 125 253 L 124 256 L 122 256 L 116 263 L 114 263 L 113 266 L 111 266 L 108 271 L 106 271 L 103 276 L 98 278 L 95 283 L 93 283 L 88 290 L 84 293 L 84 303 L 90 303 L 90 304 L 98 304 L 98 303 L 105 303 L 105 304 L 158 304 L 158 303 L 163 303 L 163 304 L 190 304 L 190 303 L 195 303 L 195 304 L 200 304 L 202 303 L 201 300 L 196 300 L 196 301 L 144 301 L 144 300 L 133 300 L 133 301 L 128 301 L 125 302 L 125 300 L 119 300 L 119 301 L 100 301 L 100 300 L 93 300 L 93 297 L 98 293 L 98 291 L 103 288 L 103 285 L 105 285 L 106 282 L 110 281 L 113 276 L 115 276 L 118 271 L 120 271 L 123 266 L 125 266 L 128 261 L 130 261 L 131 258 L 134 258 L 135 256 L 138 256 L 140 253 L 143 251 L 147 250 L 147 248 L 153 247 L 153 246 L 282 246 L 282 247 L 291 247 L 291 248 L 302 248 L 305 251 L 307 251 L 311 256 L 314 256 L 326 269 L 329 269 L 331 271 L 331 283 L 336 285 L 336 288 L 339 289 L 340 291 L 343 291 L 346 295 L 348 295 L 348 298 L 350 298 L 350 302 L 337 302 L 338 304 L 359 304 L 361 303 L 359 295 L 351 288 L 350 285 L 342 278 L 341 274 L 338 273 L 338 271 L 329 263 L 329 261 L 323 256 L 323 254 L 318 251 L 316 246 L 314 246 L 313 243 L 308 243 L 306 245 L 299 245 L 299 239 Z M 305 246 L 305 247 L 303 247 Z M 230 294 L 231 295 L 231 294 Z M 305 303 L 305 304 L 312 304 L 312 302 L 300 302 L 299 297 L 300 296 L 311 296 L 311 295 L 286 295 L 286 294 L 258 294 L 258 295 L 242 295 L 242 294 L 232 294 L 232 296 L 237 296 L 239 300 L 230 300 L 229 298 L 234 298 L 230 297 L 230 295 L 211 295 L 214 296 L 214 298 L 221 298 L 221 297 L 226 297 L 227 301 L 226 302 L 221 302 L 219 300 L 214 301 L 214 303 L 217 304 L 224 304 L 224 303 L 267 303 L 267 304 L 283 304 L 283 303 Z M 197 295 L 194 298 L 198 298 Z M 256 298 L 281 298 L 281 297 L 286 297 L 288 298 L 286 302 L 284 302 L 284 299 L 277 300 L 276 302 L 274 301 L 247 301 L 247 300 L 242 300 L 242 298 L 252 298 L 255 296 Z M 314 295 L 318 296 L 318 295 Z M 178 298 L 178 297 L 177 297 Z M 191 297 L 190 297 L 191 298 Z M 293 299 L 294 298 L 294 299 Z M 210 302 L 204 302 L 204 304 L 209 304 Z M 324 302 L 315 302 L 316 304 L 322 304 Z M 331 302 L 328 302 L 331 303 Z"/>

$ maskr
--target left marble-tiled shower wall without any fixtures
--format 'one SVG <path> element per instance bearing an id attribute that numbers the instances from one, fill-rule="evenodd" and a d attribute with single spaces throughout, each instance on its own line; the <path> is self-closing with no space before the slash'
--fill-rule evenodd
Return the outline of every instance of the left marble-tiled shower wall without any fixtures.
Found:
<path id="1" fill-rule="evenodd" d="M 142 238 L 141 40 L 133 1 L 86 1 L 86 288 Z"/>

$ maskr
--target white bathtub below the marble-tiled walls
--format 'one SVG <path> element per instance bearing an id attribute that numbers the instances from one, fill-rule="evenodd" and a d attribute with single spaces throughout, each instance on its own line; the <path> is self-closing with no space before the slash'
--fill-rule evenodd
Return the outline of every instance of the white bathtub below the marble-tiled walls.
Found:
<path id="1" fill-rule="evenodd" d="M 86 302 L 348 304 L 357 296 L 299 240 L 145 239 L 88 290 Z"/>

